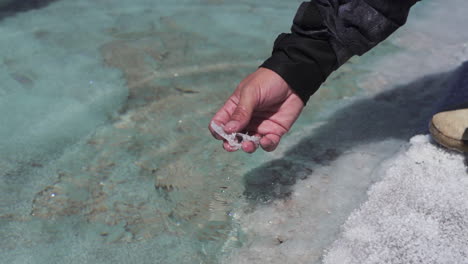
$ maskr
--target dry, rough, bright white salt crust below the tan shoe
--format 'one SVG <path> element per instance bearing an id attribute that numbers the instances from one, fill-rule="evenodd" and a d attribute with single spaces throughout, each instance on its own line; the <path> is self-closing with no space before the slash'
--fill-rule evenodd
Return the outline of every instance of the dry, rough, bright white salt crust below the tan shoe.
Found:
<path id="1" fill-rule="evenodd" d="M 325 264 L 468 263 L 468 174 L 463 155 L 411 139 L 353 212 Z"/>

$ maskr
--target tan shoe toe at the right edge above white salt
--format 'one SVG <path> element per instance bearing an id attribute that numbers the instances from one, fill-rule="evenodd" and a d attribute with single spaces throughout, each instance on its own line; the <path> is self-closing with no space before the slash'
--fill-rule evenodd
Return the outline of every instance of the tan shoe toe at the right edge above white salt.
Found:
<path id="1" fill-rule="evenodd" d="M 468 108 L 434 115 L 429 131 L 437 143 L 449 149 L 468 152 Z"/>

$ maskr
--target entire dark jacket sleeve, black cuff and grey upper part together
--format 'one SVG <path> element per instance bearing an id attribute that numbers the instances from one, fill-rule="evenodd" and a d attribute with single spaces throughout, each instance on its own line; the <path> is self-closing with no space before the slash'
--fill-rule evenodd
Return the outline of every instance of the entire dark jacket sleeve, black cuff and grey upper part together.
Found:
<path id="1" fill-rule="evenodd" d="M 291 33 L 276 39 L 261 67 L 278 73 L 304 104 L 353 55 L 362 55 L 406 22 L 419 0 L 312 0 L 299 7 Z"/>

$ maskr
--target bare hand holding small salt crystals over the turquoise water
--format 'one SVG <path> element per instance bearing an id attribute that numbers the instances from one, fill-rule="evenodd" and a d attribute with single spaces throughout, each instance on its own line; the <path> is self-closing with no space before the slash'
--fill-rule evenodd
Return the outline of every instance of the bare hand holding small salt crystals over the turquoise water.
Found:
<path id="1" fill-rule="evenodd" d="M 272 70 L 259 68 L 242 80 L 211 121 L 224 125 L 226 133 L 247 132 L 261 137 L 260 146 L 273 151 L 281 137 L 289 131 L 304 108 L 302 100 L 289 85 Z M 211 123 L 211 122 L 210 122 Z M 211 128 L 211 133 L 222 140 Z M 226 141 L 227 151 L 235 151 Z M 242 150 L 252 153 L 257 146 L 242 143 Z"/>

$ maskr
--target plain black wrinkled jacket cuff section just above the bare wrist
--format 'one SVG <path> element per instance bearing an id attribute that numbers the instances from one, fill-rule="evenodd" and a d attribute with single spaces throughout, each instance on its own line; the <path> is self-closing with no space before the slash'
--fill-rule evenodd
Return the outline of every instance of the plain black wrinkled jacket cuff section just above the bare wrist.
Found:
<path id="1" fill-rule="evenodd" d="M 335 51 L 321 21 L 317 7 L 303 3 L 294 18 L 292 33 L 278 36 L 271 57 L 260 66 L 280 75 L 304 105 L 337 67 Z"/>

